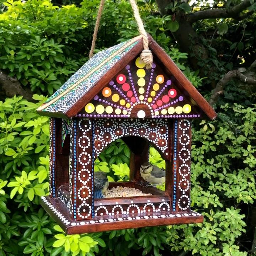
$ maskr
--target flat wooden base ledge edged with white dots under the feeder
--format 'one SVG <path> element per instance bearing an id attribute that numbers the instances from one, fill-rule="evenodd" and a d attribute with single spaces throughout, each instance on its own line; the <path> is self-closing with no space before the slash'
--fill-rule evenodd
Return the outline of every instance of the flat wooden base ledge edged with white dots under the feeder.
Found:
<path id="1" fill-rule="evenodd" d="M 96 216 L 91 220 L 76 221 L 70 219 L 68 209 L 64 210 L 62 202 L 57 198 L 41 197 L 41 204 L 67 234 L 203 222 L 203 216 L 193 211 L 115 214 L 113 216 Z"/>

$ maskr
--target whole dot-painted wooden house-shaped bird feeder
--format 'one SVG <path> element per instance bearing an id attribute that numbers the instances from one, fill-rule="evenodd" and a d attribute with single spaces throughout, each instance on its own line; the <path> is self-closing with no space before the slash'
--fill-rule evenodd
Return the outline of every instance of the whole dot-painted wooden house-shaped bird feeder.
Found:
<path id="1" fill-rule="evenodd" d="M 203 221 L 190 209 L 191 119 L 217 114 L 149 35 L 145 63 L 144 39 L 95 54 L 38 108 L 51 117 L 49 196 L 41 203 L 68 234 Z M 119 138 L 131 150 L 130 180 L 109 188 L 151 195 L 95 198 L 94 161 Z M 149 143 L 166 162 L 165 191 L 142 182 Z"/>

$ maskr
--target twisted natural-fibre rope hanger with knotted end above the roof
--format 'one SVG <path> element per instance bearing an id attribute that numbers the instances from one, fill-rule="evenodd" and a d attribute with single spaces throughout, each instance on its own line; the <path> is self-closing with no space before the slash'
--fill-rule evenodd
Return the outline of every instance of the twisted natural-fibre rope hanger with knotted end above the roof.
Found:
<path id="1" fill-rule="evenodd" d="M 152 67 L 152 64 L 153 64 L 153 55 L 151 53 L 151 50 L 149 50 L 148 36 L 147 36 L 145 28 L 143 26 L 142 19 L 139 15 L 138 6 L 136 5 L 135 0 L 129 0 L 129 1 L 130 1 L 130 5 L 132 6 L 132 9 L 133 9 L 134 18 L 135 18 L 135 20 L 137 22 L 137 25 L 138 25 L 139 33 L 143 38 L 143 48 L 144 48 L 144 50 L 140 54 L 140 59 L 142 60 L 142 62 L 144 62 L 146 64 L 146 68 L 149 69 L 149 68 Z M 90 50 L 90 53 L 89 53 L 89 58 L 90 59 L 93 56 L 93 52 L 94 52 L 94 48 L 95 48 L 95 42 L 96 42 L 96 38 L 97 38 L 98 28 L 100 26 L 100 19 L 101 19 L 104 3 L 105 3 L 105 0 L 101 0 L 100 7 L 99 7 L 99 10 L 98 10 L 98 13 L 97 13 L 97 18 L 96 18 L 96 23 L 95 23 L 95 28 L 94 28 L 94 34 L 93 34 L 93 37 L 92 37 L 91 50 Z"/>

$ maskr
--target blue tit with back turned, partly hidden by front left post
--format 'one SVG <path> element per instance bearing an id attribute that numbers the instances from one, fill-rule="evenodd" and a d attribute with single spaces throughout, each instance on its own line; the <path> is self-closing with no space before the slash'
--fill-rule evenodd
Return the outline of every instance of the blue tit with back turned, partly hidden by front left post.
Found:
<path id="1" fill-rule="evenodd" d="M 104 198 L 109 182 L 106 172 L 97 171 L 94 173 L 94 196 L 95 198 Z"/>

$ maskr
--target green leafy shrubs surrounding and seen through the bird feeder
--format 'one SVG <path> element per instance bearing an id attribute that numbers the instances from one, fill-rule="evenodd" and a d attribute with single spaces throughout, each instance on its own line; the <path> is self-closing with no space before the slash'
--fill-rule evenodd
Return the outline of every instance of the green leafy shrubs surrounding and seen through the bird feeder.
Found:
<path id="1" fill-rule="evenodd" d="M 98 0 L 54 6 L 48 0 L 4 3 L 0 15 L 0 69 L 16 76 L 35 93 L 34 102 L 22 97 L 0 102 L 0 256 L 10 255 L 250 255 L 251 212 L 255 207 L 256 105 L 251 89 L 230 83 L 217 104 L 218 119 L 195 121 L 192 145 L 192 208 L 204 215 L 202 224 L 140 228 L 97 234 L 64 235 L 39 205 L 48 193 L 49 120 L 35 109 L 87 60 Z M 219 59 L 218 43 L 250 52 L 255 30 L 246 41 L 224 40 L 236 33 L 233 21 L 204 21 L 197 30 L 218 27 L 215 46 L 202 66 L 214 66 L 212 77 L 199 78 L 186 63 L 175 40 L 168 35 L 177 28 L 171 16 L 155 16 L 154 1 L 138 2 L 146 30 L 171 55 L 193 85 L 209 96 L 210 80 L 218 80 L 233 65 Z M 186 12 L 186 5 L 171 6 Z M 152 14 L 152 15 L 149 15 Z M 255 21 L 250 21 L 255 25 Z M 254 22 L 254 23 L 253 23 Z M 106 1 L 98 33 L 97 50 L 137 35 L 128 1 Z M 223 25 L 225 24 L 225 25 Z M 246 24 L 245 24 L 246 25 Z M 207 28 L 206 28 L 207 27 Z M 228 29 L 228 30 L 227 30 Z M 236 44 L 235 44 L 236 43 Z M 43 96 L 44 95 L 44 96 Z M 153 148 L 150 160 L 164 166 Z M 96 171 L 108 172 L 110 180 L 127 180 L 129 150 L 118 140 L 96 161 Z"/>

